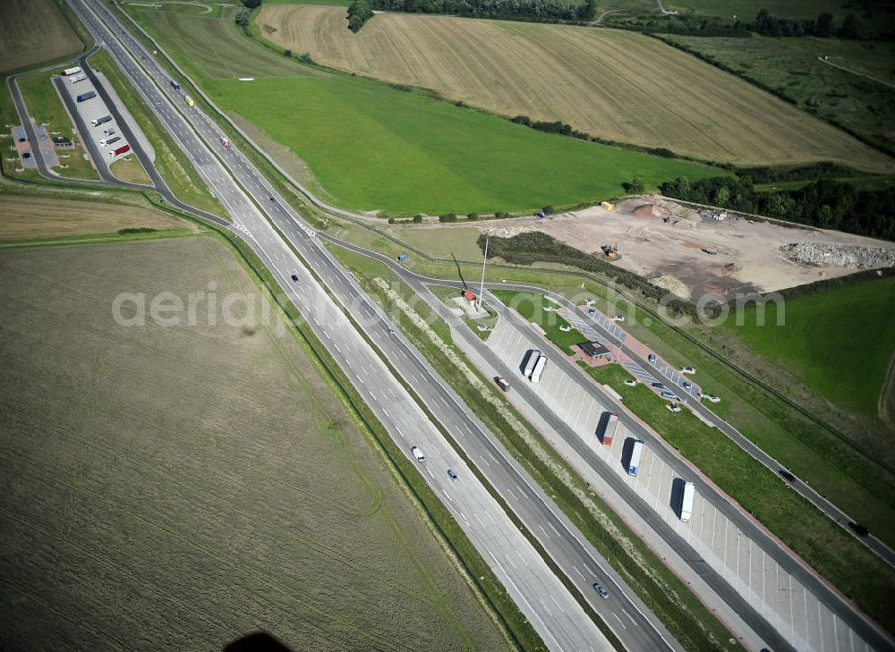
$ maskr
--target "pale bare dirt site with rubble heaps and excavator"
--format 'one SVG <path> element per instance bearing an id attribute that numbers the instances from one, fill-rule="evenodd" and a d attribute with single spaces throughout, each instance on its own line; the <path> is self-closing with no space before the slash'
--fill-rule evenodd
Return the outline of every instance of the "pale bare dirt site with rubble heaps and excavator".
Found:
<path id="1" fill-rule="evenodd" d="M 517 218 L 479 228 L 504 236 L 542 231 L 598 255 L 602 245 L 617 245 L 618 267 L 693 300 L 708 292 L 728 297 L 772 292 L 895 264 L 895 242 L 744 218 L 706 219 L 653 197 L 627 199 L 611 211 L 590 207 L 544 220 Z M 802 246 L 788 246 L 794 244 Z M 805 255 L 805 250 L 818 255 Z"/>

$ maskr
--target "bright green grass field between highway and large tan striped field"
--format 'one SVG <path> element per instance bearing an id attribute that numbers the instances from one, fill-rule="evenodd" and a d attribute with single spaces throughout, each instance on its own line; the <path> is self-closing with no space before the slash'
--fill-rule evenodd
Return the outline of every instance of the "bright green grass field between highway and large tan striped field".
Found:
<path id="1" fill-rule="evenodd" d="M 241 47 L 251 47 L 260 60 L 272 55 L 234 31 L 220 36 L 214 19 L 129 11 L 165 47 L 181 52 L 181 63 L 217 104 L 292 149 L 308 166 L 311 187 L 345 207 L 409 215 L 488 213 L 605 199 L 635 175 L 655 186 L 678 175 L 719 174 L 716 168 L 533 131 L 348 75 L 241 82 L 192 61 L 191 48 L 210 42 L 221 56 L 239 56 Z M 285 58 L 283 63 L 299 67 Z"/>

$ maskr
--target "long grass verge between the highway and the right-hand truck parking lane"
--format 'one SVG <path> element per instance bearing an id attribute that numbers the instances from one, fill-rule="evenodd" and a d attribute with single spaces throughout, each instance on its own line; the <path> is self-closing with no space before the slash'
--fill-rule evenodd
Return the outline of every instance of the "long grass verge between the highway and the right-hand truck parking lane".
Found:
<path id="1" fill-rule="evenodd" d="M 413 290 L 378 261 L 353 252 L 333 247 L 337 258 L 352 270 L 364 288 L 389 312 L 390 318 L 422 352 L 433 368 L 454 387 L 456 392 L 490 431 L 498 436 L 517 461 L 532 475 L 548 495 L 567 514 L 575 526 L 605 556 L 612 567 L 621 573 L 626 583 L 644 603 L 657 614 L 676 638 L 693 650 L 733 649 L 729 631 L 699 602 L 686 585 L 670 572 L 661 560 L 635 536 L 625 523 L 595 495 L 590 487 L 575 474 L 567 462 L 531 428 L 521 415 L 501 397 L 490 379 L 471 369 L 486 388 L 471 385 L 463 370 L 434 346 L 408 315 L 394 309 L 388 295 L 374 277 L 388 281 L 391 289 L 408 302 L 415 302 L 420 317 L 431 324 L 439 338 L 458 355 L 447 324 L 439 318 L 430 319 L 430 309 L 413 300 Z M 496 402 L 486 397 L 495 398 Z M 499 407 L 497 407 L 499 405 Z M 521 429 L 520 429 L 521 425 Z"/>

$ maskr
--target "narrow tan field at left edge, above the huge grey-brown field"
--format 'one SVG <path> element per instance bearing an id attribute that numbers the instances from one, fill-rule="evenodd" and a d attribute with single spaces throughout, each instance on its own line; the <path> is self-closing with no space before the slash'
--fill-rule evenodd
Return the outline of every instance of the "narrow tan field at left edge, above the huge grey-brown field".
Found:
<path id="1" fill-rule="evenodd" d="M 119 229 L 182 229 L 190 223 L 147 207 L 0 194 L 0 240 L 102 233 Z"/>

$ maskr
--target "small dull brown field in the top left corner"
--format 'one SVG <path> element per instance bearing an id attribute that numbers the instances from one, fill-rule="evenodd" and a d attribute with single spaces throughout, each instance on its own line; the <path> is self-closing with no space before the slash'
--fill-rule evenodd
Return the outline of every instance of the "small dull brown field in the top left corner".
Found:
<path id="1" fill-rule="evenodd" d="M 0 72 L 72 55 L 83 47 L 53 0 L 3 0 L 0 14 Z"/>

